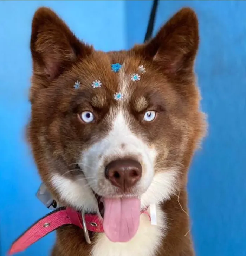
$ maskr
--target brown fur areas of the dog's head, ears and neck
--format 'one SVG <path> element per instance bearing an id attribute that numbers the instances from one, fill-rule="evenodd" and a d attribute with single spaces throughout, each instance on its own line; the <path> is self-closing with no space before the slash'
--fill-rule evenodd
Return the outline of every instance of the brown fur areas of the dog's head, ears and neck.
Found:
<path id="1" fill-rule="evenodd" d="M 188 212 L 187 170 L 205 131 L 193 71 L 198 42 L 196 15 L 188 8 L 175 14 L 150 42 L 120 52 L 93 50 L 47 8 L 40 8 L 32 23 L 32 115 L 28 139 L 40 176 L 59 201 L 62 200 L 50 183 L 50 171 L 65 173 L 71 169 L 80 152 L 108 132 L 107 113 L 117 104 L 112 95 L 117 92 L 119 82 L 110 65 L 124 62 L 125 74 L 129 76 L 138 73 L 140 64 L 148 70 L 140 83 L 128 88 L 130 96 L 126 104 L 132 113 L 131 129 L 144 135 L 159 150 L 156 171 L 162 167 L 163 160 L 166 168 L 174 161 L 181 166 L 179 201 L 173 195 L 163 202 L 168 233 L 156 256 L 194 255 L 189 218 L 182 208 Z M 88 86 L 95 77 L 106 85 L 97 94 Z M 74 90 L 73 83 L 77 80 L 81 88 Z M 155 109 L 158 118 L 151 124 L 140 123 L 148 108 Z M 93 110 L 94 123 L 84 125 L 79 120 L 78 113 L 83 110 Z M 69 174 L 71 179 L 73 175 Z M 96 234 L 91 234 L 91 239 L 95 241 Z M 86 244 L 82 230 L 66 226 L 57 230 L 52 255 L 87 256 L 91 246 Z"/>

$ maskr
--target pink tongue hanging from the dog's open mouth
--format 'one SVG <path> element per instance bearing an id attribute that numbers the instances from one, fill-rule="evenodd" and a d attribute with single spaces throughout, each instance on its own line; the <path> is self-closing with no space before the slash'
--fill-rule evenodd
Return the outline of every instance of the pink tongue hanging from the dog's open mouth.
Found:
<path id="1" fill-rule="evenodd" d="M 112 242 L 127 242 L 137 232 L 140 200 L 137 198 L 104 198 L 103 229 Z"/>

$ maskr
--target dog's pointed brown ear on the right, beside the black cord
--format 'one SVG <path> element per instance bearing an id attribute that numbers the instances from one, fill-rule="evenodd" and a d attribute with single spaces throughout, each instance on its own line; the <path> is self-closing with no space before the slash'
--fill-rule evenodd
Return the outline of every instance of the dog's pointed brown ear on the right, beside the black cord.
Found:
<path id="1" fill-rule="evenodd" d="M 198 44 L 196 14 L 192 9 L 183 8 L 152 40 L 133 50 L 156 62 L 164 72 L 176 74 L 193 70 Z"/>

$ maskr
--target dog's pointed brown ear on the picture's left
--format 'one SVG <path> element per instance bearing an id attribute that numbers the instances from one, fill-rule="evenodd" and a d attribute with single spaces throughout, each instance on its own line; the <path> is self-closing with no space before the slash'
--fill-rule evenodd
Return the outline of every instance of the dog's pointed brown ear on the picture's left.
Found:
<path id="1" fill-rule="evenodd" d="M 50 9 L 39 8 L 33 17 L 31 52 L 33 73 L 52 80 L 78 58 L 92 52 Z"/>

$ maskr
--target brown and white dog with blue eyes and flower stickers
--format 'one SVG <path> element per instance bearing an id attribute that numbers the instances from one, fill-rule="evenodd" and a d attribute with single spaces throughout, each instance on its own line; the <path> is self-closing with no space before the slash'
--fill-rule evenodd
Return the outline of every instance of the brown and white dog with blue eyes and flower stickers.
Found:
<path id="1" fill-rule="evenodd" d="M 61 227 L 52 256 L 194 255 L 187 172 L 206 133 L 198 45 L 189 8 L 148 42 L 108 53 L 52 10 L 35 12 L 28 141 L 59 205 L 97 214 L 104 230 L 87 243 L 79 227 Z"/>

